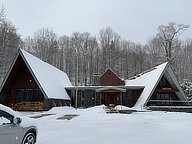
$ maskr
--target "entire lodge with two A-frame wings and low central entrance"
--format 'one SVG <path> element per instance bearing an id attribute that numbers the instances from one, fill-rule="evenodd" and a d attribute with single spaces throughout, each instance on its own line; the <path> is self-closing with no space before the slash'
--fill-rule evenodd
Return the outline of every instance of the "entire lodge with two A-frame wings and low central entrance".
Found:
<path id="1" fill-rule="evenodd" d="M 168 62 L 126 81 L 108 69 L 97 85 L 72 86 L 66 73 L 19 50 L 0 88 L 0 103 L 18 110 L 124 105 L 134 109 L 186 106 L 186 96 Z M 76 95 L 77 93 L 77 95 Z"/>

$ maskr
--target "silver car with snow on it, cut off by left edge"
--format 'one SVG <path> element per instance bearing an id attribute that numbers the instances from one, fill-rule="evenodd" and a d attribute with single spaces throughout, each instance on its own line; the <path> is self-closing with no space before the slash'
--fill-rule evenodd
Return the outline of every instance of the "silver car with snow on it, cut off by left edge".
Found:
<path id="1" fill-rule="evenodd" d="M 33 120 L 0 104 L 0 143 L 35 144 L 37 127 Z"/>

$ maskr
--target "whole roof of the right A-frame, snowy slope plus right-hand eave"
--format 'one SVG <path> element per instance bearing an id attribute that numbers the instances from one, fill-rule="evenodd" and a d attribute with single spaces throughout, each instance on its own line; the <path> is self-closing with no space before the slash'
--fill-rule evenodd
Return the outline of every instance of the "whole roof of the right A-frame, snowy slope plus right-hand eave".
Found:
<path id="1" fill-rule="evenodd" d="M 159 66 L 156 66 L 148 71 L 145 71 L 141 74 L 138 74 L 137 76 L 126 80 L 126 86 L 145 87 L 134 108 L 139 109 L 141 108 L 141 106 L 146 106 L 148 100 L 152 96 L 155 88 L 157 87 L 163 75 L 165 75 L 165 77 L 172 86 L 179 90 L 179 92 L 176 93 L 178 97 L 181 100 L 186 100 L 185 94 L 181 89 L 180 84 L 173 73 L 173 70 L 171 69 L 169 63 L 165 62 Z"/>

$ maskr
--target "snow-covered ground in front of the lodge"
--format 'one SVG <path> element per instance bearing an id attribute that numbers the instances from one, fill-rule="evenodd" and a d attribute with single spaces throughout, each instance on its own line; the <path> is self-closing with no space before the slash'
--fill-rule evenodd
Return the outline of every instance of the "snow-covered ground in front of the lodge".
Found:
<path id="1" fill-rule="evenodd" d="M 37 116 L 37 144 L 190 144 L 192 114 L 137 112 L 106 114 L 102 106 L 89 109 L 53 108 Z M 58 120 L 66 114 L 79 115 Z"/>

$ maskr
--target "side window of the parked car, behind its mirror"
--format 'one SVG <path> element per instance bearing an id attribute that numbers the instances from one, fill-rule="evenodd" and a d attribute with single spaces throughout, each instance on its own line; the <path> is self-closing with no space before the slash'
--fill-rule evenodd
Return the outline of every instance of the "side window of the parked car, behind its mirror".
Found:
<path id="1" fill-rule="evenodd" d="M 13 122 L 13 116 L 9 113 L 0 110 L 0 125 L 9 124 Z"/>

